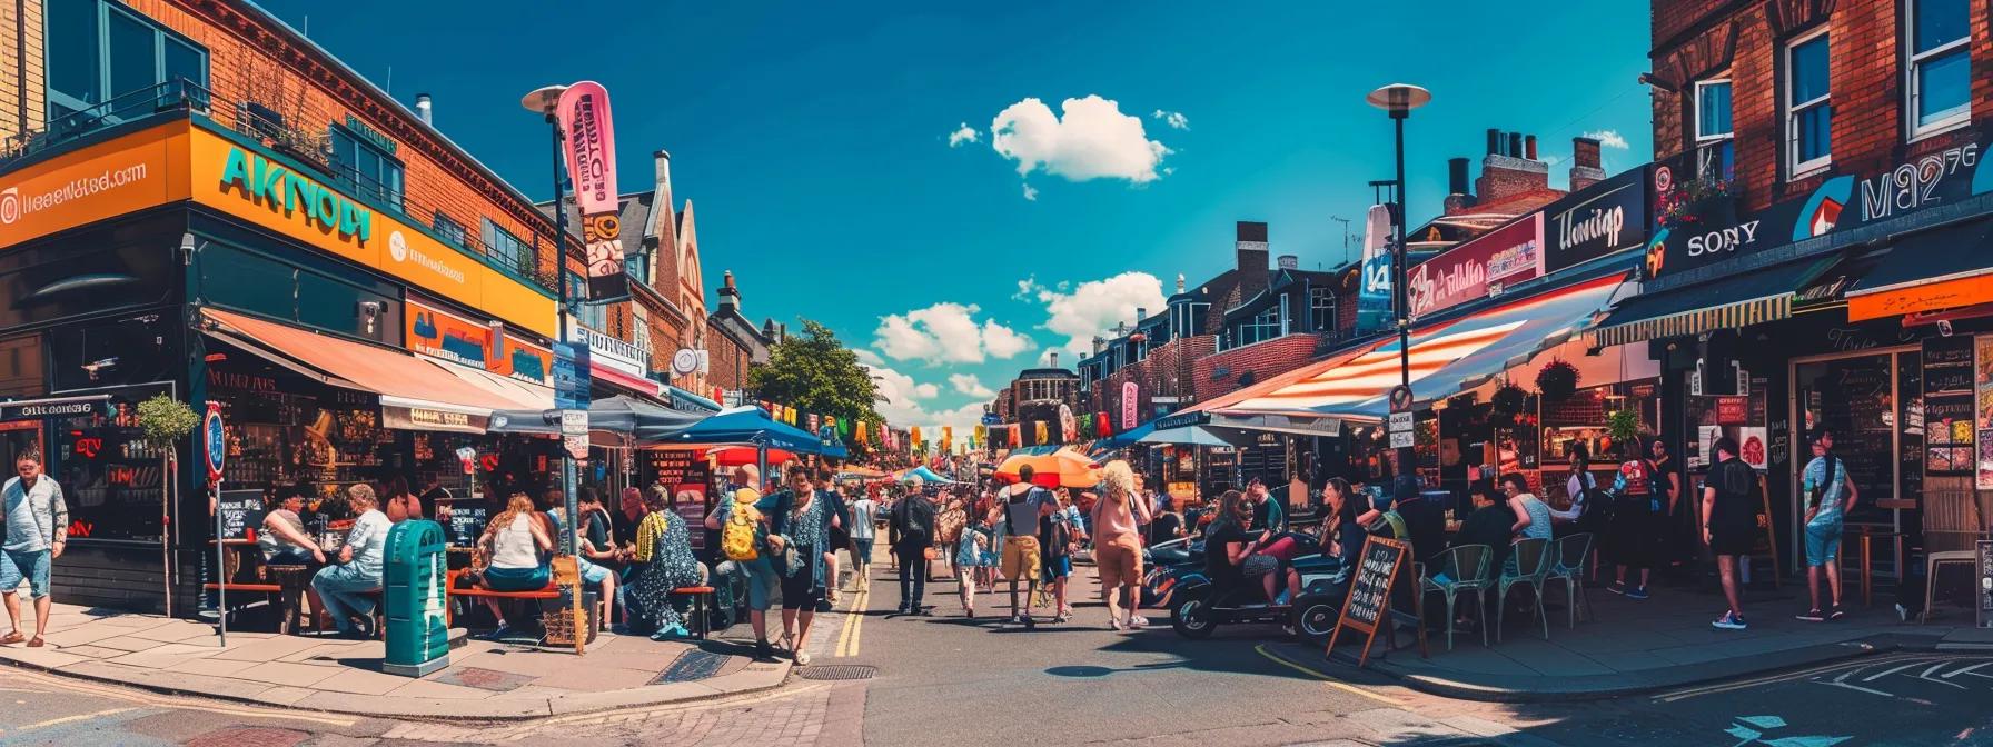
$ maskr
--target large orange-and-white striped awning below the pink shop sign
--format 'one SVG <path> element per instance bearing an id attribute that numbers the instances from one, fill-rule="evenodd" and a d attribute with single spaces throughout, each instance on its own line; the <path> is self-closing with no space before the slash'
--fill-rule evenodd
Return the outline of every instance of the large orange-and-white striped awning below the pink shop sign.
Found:
<path id="1" fill-rule="evenodd" d="M 1413 394 L 1421 402 L 1439 400 L 1475 378 L 1509 369 L 1515 359 L 1527 361 L 1545 347 L 1563 345 L 1610 305 L 1624 279 L 1624 273 L 1614 273 L 1413 331 Z M 1397 337 L 1389 337 L 1311 365 L 1278 388 L 1254 388 L 1246 398 L 1210 412 L 1214 422 L 1274 414 L 1303 416 L 1309 424 L 1319 418 L 1375 422 L 1387 410 L 1385 396 L 1401 380 L 1399 359 Z"/>

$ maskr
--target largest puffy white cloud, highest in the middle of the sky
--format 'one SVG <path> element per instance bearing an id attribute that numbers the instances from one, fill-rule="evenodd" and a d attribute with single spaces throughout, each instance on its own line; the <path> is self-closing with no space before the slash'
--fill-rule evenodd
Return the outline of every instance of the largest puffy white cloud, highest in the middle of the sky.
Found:
<path id="1" fill-rule="evenodd" d="M 1070 181 L 1160 179 L 1156 165 L 1170 149 L 1148 139 L 1142 118 L 1100 96 L 1068 98 L 1058 108 L 1064 118 L 1036 98 L 1010 104 L 991 120 L 991 147 L 1014 159 L 1018 175 L 1044 169 Z"/>

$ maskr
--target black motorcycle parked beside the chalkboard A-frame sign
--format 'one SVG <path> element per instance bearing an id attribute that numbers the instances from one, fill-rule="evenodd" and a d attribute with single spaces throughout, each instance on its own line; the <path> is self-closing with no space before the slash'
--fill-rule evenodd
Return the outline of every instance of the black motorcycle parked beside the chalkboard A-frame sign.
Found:
<path id="1" fill-rule="evenodd" d="M 1347 574 L 1341 560 L 1321 556 L 1311 534 L 1287 536 L 1299 544 L 1291 568 L 1301 574 L 1301 596 L 1289 604 L 1272 604 L 1260 584 L 1220 588 L 1204 570 L 1204 552 L 1198 546 L 1196 560 L 1186 554 L 1182 562 L 1158 564 L 1150 572 L 1150 580 L 1144 582 L 1144 606 L 1170 610 L 1170 627 L 1190 639 L 1210 637 L 1218 625 L 1228 623 L 1280 623 L 1309 641 L 1327 641 L 1341 618 Z"/>

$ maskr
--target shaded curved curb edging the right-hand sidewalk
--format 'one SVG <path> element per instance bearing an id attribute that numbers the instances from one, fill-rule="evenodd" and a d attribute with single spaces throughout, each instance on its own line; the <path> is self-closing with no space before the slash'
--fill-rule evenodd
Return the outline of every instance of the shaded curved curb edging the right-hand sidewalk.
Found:
<path id="1" fill-rule="evenodd" d="M 1614 697 L 1632 697 L 1658 693 L 1666 689 L 1678 689 L 1686 685 L 1704 685 L 1714 681 L 1730 681 L 1740 677 L 1758 677 L 1772 673 L 1798 671 L 1808 667 L 1818 667 L 1824 663 L 1859 659 L 1879 653 L 1893 651 L 1937 651 L 1935 635 L 1913 635 L 1913 633 L 1877 633 L 1863 639 L 1844 641 L 1844 643 L 1822 643 L 1808 645 L 1788 651 L 1772 651 L 1752 657 L 1710 661 L 1700 665 L 1668 667 L 1656 669 L 1648 675 L 1588 675 L 1588 677 L 1489 677 L 1483 683 L 1455 681 L 1447 677 L 1435 677 L 1427 673 L 1411 673 L 1403 667 L 1393 665 L 1389 659 L 1371 657 L 1367 669 L 1355 669 L 1353 653 L 1335 653 L 1325 657 L 1325 661 L 1347 665 L 1355 671 L 1373 671 L 1395 679 L 1407 689 L 1415 689 L 1427 695 L 1481 701 L 1481 703 L 1572 703 L 1572 701 L 1600 701 Z M 1285 647 L 1268 647 L 1268 653 L 1287 661 L 1305 665 L 1307 661 L 1293 661 Z M 1413 649 L 1391 651 L 1393 655 L 1415 653 Z M 1321 659 L 1315 659 L 1321 661 Z"/>

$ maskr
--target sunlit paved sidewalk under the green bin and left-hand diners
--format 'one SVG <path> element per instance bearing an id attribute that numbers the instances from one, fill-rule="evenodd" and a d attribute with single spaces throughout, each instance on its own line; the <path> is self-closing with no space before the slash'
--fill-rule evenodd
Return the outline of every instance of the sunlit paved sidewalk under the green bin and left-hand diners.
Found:
<path id="1" fill-rule="evenodd" d="M 229 631 L 159 616 L 56 606 L 48 647 L 0 647 L 0 661 L 153 691 L 377 717 L 534 719 L 658 705 L 781 685 L 789 661 L 745 645 L 602 633 L 586 655 L 468 641 L 450 665 L 411 679 L 381 671 L 381 641 Z M 745 627 L 745 625 L 741 625 Z M 680 681 L 684 679 L 684 681 Z"/>

